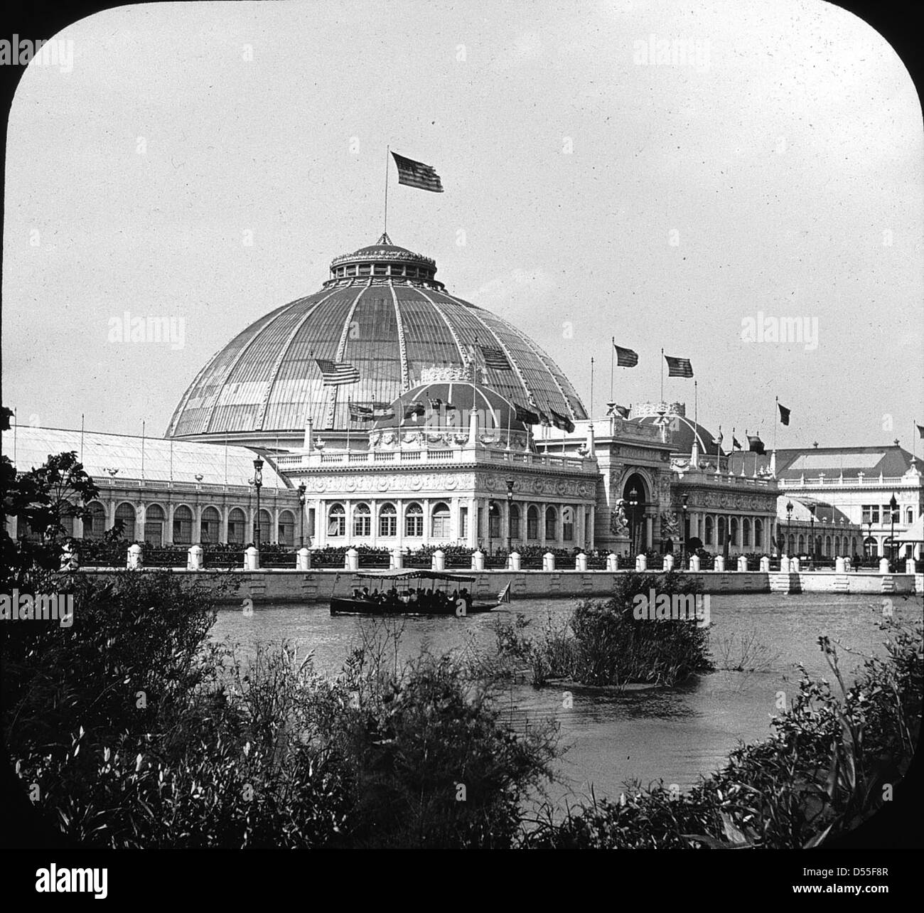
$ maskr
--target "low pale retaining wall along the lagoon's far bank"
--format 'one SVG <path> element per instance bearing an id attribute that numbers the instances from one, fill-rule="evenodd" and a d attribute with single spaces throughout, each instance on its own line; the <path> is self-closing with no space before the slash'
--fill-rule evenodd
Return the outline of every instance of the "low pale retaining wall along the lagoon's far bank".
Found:
<path id="1" fill-rule="evenodd" d="M 91 568 L 81 573 L 88 577 L 107 578 L 122 573 L 116 568 Z M 137 570 L 132 573 L 149 573 Z M 324 603 L 333 596 L 349 596 L 354 587 L 373 584 L 368 578 L 347 570 L 186 570 L 176 569 L 175 574 L 188 575 L 199 582 L 219 586 L 232 579 L 237 592 L 222 598 L 221 602 L 239 605 L 249 598 L 260 603 Z M 469 589 L 479 601 L 487 600 L 511 583 L 511 594 L 516 600 L 582 596 L 601 597 L 613 591 L 614 583 L 628 571 L 465 571 L 466 577 L 475 578 Z M 658 571 L 651 571 L 658 574 Z M 765 573 L 759 571 L 699 571 L 684 573 L 685 578 L 699 580 L 707 593 L 799 593 L 830 592 L 867 595 L 894 595 L 924 591 L 922 574 L 836 574 L 831 571 L 801 571 L 795 574 Z"/>

